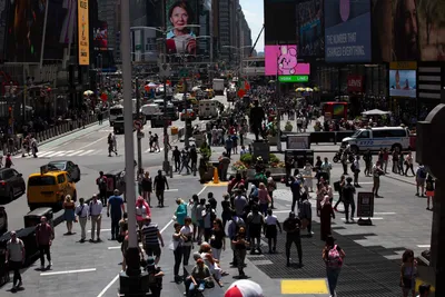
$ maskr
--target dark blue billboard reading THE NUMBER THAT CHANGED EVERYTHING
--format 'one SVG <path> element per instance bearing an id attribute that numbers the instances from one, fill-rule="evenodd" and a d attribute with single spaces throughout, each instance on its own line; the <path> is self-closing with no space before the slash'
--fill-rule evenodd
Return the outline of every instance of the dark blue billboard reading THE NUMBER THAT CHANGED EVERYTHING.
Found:
<path id="1" fill-rule="evenodd" d="M 370 62 L 370 0 L 325 1 L 325 60 Z"/>

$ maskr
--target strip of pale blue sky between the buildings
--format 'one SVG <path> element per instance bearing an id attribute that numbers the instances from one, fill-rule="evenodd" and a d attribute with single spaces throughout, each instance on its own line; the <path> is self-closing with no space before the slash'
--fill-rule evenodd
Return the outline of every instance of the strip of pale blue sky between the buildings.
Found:
<path id="1" fill-rule="evenodd" d="M 251 42 L 258 37 L 264 23 L 264 1 L 263 0 L 239 0 L 244 16 L 251 30 Z M 255 47 L 257 51 L 264 51 L 264 32 Z"/>

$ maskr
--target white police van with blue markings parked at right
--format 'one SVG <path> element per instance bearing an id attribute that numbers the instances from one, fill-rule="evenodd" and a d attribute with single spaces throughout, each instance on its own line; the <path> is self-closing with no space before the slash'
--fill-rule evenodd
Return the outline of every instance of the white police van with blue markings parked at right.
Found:
<path id="1" fill-rule="evenodd" d="M 382 148 L 394 150 L 409 150 L 409 131 L 403 127 L 378 127 L 359 129 L 353 136 L 342 141 L 342 147 L 350 145 L 354 154 L 366 150 L 378 151 Z"/>

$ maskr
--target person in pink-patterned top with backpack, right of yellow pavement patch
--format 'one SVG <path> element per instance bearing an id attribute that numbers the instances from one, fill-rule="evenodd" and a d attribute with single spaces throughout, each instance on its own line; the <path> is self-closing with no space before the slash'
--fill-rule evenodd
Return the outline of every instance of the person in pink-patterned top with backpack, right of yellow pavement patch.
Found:
<path id="1" fill-rule="evenodd" d="M 342 270 L 345 251 L 337 245 L 333 236 L 326 237 L 326 245 L 323 249 L 323 260 L 326 264 L 326 276 L 329 286 L 330 296 L 337 296 L 335 291 L 337 287 L 338 276 Z"/>

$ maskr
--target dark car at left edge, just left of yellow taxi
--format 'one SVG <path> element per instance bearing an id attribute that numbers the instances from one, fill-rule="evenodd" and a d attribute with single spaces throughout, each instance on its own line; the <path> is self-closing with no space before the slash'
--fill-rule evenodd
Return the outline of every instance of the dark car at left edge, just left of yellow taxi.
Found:
<path id="1" fill-rule="evenodd" d="M 27 186 L 21 174 L 12 168 L 0 169 L 0 202 L 10 202 L 26 191 Z"/>

